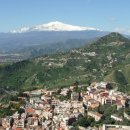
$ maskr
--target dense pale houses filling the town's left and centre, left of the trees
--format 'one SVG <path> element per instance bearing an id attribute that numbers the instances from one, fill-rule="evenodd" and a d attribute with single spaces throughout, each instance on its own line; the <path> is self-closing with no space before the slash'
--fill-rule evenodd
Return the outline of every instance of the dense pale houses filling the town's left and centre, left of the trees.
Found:
<path id="1" fill-rule="evenodd" d="M 68 90 L 63 89 L 65 93 Z M 61 91 L 61 95 L 66 95 L 64 92 Z M 25 101 L 25 105 L 21 105 L 12 116 L 2 119 L 3 129 L 69 130 L 69 124 L 75 122 L 78 116 L 84 115 L 83 103 L 78 100 L 75 92 L 71 94 L 72 100 L 68 101 L 56 99 L 53 96 L 55 93 L 57 90 L 24 92 L 26 96 L 18 98 Z"/>

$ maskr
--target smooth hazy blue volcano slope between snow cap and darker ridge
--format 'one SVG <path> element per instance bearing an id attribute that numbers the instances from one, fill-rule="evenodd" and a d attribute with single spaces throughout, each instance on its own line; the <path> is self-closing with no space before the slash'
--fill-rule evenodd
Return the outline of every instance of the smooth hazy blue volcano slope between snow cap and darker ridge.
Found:
<path id="1" fill-rule="evenodd" d="M 66 42 L 69 39 L 95 39 L 104 36 L 107 32 L 100 31 L 38 31 L 26 33 L 1 33 L 0 51 L 12 52 L 26 47 L 51 45 L 57 42 Z M 62 45 L 62 44 L 61 44 Z"/>

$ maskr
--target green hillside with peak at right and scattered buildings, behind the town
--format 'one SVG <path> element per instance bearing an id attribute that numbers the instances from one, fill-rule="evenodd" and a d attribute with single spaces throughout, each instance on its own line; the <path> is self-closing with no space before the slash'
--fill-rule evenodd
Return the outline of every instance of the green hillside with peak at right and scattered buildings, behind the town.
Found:
<path id="1" fill-rule="evenodd" d="M 92 81 L 112 82 L 130 92 L 130 41 L 110 33 L 82 48 L 0 67 L 4 90 L 53 88 Z"/>

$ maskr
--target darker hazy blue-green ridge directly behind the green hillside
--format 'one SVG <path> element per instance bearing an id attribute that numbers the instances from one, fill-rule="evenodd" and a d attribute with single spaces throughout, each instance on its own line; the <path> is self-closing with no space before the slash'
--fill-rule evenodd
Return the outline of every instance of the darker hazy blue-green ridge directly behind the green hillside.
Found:
<path id="1" fill-rule="evenodd" d="M 94 40 L 94 39 L 92 39 Z M 17 53 L 26 56 L 25 58 L 34 58 L 46 54 L 55 54 L 59 52 L 66 52 L 74 48 L 79 48 L 92 41 L 91 39 L 69 39 L 65 42 L 56 42 L 47 45 L 37 45 L 26 47 L 18 50 Z"/>

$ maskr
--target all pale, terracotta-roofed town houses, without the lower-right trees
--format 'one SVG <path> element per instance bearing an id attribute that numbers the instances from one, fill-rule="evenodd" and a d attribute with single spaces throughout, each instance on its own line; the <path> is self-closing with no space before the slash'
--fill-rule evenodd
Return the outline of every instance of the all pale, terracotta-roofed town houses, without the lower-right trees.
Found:
<path id="1" fill-rule="evenodd" d="M 102 118 L 102 114 L 93 111 L 99 105 L 116 105 L 117 109 L 130 106 L 130 98 L 121 92 L 110 89 L 105 82 L 92 83 L 87 91 L 76 92 L 76 86 L 63 88 L 59 95 L 67 96 L 71 91 L 70 99 L 59 100 L 56 95 L 58 89 L 49 91 L 44 89 L 24 92 L 19 100 L 25 103 L 12 116 L 2 119 L 5 130 L 70 130 L 72 123 L 85 111 L 95 121 Z M 91 108 L 91 111 L 90 109 Z M 111 118 L 122 121 L 121 117 L 111 115 Z"/>

